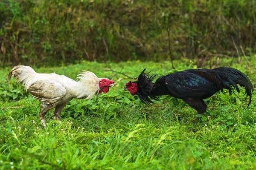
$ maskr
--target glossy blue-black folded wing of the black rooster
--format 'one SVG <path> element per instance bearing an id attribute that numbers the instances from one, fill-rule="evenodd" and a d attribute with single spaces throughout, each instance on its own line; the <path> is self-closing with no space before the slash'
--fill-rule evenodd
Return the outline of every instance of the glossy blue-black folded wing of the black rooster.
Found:
<path id="1" fill-rule="evenodd" d="M 204 99 L 218 91 L 213 82 L 189 71 L 167 75 L 165 84 L 170 95 L 181 99 Z"/>

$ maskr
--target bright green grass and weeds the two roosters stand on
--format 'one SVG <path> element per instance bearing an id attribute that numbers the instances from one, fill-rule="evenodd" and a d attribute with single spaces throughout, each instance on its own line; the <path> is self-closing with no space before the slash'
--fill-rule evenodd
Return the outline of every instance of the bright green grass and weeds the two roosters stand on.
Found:
<path id="1" fill-rule="evenodd" d="M 246 62 L 233 61 L 250 77 L 256 74 Z M 221 59 L 227 66 L 230 60 Z M 121 62 L 111 68 L 136 77 L 147 67 L 156 74 L 171 73 L 170 62 Z M 177 70 L 195 68 L 188 60 L 175 61 Z M 64 109 L 61 122 L 46 116 L 44 130 L 38 118 L 39 102 L 20 86 L 6 92 L 10 68 L 0 71 L 0 169 L 255 169 L 256 97 L 247 107 L 243 92 L 237 96 L 215 94 L 207 99 L 202 116 L 179 99 L 163 96 L 145 105 L 123 91 L 129 79 L 105 70 L 106 65 L 81 62 L 77 65 L 38 68 L 75 78 L 81 70 L 109 77 L 116 86 L 108 94 L 90 101 L 73 99 Z M 15 89 L 18 89 L 15 92 Z M 17 97 L 18 94 L 19 97 Z M 23 95 L 20 97 L 20 95 Z"/>

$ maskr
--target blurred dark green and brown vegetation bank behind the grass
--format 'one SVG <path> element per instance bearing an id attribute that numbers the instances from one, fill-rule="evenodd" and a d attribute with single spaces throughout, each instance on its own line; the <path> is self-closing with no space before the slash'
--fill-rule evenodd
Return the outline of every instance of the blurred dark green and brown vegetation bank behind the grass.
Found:
<path id="1" fill-rule="evenodd" d="M 256 52 L 255 0 L 1 0 L 0 65 Z M 199 65 L 200 66 L 200 65 Z"/>

